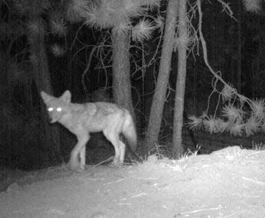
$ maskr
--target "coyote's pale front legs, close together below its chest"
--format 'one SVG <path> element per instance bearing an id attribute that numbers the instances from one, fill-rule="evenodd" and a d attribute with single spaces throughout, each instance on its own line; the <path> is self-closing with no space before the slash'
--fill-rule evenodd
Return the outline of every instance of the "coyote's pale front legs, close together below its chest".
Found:
<path id="1" fill-rule="evenodd" d="M 86 166 L 86 143 L 90 139 L 88 133 L 77 135 L 77 144 L 70 155 L 70 168 L 77 172 L 84 171 Z"/>

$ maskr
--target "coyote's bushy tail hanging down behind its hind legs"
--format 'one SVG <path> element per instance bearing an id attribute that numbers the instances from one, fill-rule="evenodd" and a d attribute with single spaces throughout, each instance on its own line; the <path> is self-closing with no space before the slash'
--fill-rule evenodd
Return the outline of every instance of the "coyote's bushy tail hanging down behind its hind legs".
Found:
<path id="1" fill-rule="evenodd" d="M 135 129 L 133 117 L 129 113 L 126 115 L 124 126 L 122 128 L 122 134 L 124 135 L 124 137 L 126 137 L 130 149 L 135 152 L 137 148 L 137 132 Z"/>

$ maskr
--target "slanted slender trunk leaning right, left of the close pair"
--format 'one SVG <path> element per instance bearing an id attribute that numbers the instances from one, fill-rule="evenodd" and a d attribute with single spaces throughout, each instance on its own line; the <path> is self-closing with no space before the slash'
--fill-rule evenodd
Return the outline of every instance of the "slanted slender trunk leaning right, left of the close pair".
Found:
<path id="1" fill-rule="evenodd" d="M 178 1 L 169 0 L 166 15 L 166 26 L 164 41 L 159 65 L 157 85 L 150 109 L 148 129 L 146 132 L 145 144 L 148 150 L 152 150 L 158 141 L 161 119 L 163 115 L 166 88 L 170 73 L 171 57 L 173 52 L 173 41 L 175 36 Z"/>

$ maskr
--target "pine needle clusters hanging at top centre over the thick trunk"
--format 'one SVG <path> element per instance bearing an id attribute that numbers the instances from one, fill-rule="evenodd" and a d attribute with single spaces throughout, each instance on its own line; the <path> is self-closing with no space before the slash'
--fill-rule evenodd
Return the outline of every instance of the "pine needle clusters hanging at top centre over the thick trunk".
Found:
<path id="1" fill-rule="evenodd" d="M 90 28 L 111 29 L 117 34 L 132 34 L 135 41 L 150 39 L 153 30 L 159 28 L 157 21 L 135 18 L 144 16 L 148 10 L 159 8 L 161 0 L 72 0 L 67 6 L 69 21 L 82 20 Z M 77 19 L 77 15 L 79 19 Z"/>

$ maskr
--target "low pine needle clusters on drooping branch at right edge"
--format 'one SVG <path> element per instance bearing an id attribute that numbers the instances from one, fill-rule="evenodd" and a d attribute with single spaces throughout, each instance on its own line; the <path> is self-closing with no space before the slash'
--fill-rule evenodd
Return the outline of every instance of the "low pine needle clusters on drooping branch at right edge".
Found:
<path id="1" fill-rule="evenodd" d="M 255 132 L 265 130 L 265 100 L 250 100 L 235 95 L 236 90 L 226 85 L 222 95 L 221 115 L 190 116 L 188 126 L 191 130 L 206 130 L 210 133 L 229 132 L 236 137 L 249 137 Z M 218 107 L 218 106 L 217 106 Z M 215 110 L 216 111 L 216 110 Z"/>

